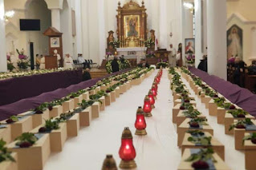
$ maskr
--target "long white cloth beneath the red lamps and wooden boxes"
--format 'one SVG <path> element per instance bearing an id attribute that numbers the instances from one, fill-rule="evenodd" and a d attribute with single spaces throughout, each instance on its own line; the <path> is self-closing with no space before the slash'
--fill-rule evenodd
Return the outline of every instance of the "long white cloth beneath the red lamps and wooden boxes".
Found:
<path id="1" fill-rule="evenodd" d="M 44 170 L 99 170 L 106 154 L 113 154 L 116 164 L 119 165 L 121 134 L 126 126 L 133 134 L 137 170 L 176 170 L 181 160 L 181 149 L 177 147 L 177 127 L 173 125 L 171 117 L 173 96 L 169 89 L 167 71 L 164 71 L 158 88 L 156 109 L 152 110 L 153 117 L 146 118 L 148 135 L 134 135 L 136 109 L 143 105 L 144 96 L 148 93 L 156 73 L 157 71 L 141 85 L 132 86 L 127 93 L 120 95 L 89 127 L 80 129 L 79 136 L 68 139 L 63 152 L 52 154 Z M 245 169 L 244 153 L 234 149 L 234 137 L 225 135 L 224 126 L 217 125 L 216 117 L 209 117 L 205 104 L 201 104 L 197 97 L 196 100 L 197 109 L 205 114 L 214 130 L 214 137 L 225 145 L 226 164 L 232 170 Z"/>

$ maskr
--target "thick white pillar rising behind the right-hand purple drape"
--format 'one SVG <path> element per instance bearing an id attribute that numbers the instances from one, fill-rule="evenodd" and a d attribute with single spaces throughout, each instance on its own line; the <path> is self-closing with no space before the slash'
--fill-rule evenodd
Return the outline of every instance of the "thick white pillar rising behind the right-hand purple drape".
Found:
<path id="1" fill-rule="evenodd" d="M 208 73 L 227 78 L 226 1 L 207 0 Z"/>

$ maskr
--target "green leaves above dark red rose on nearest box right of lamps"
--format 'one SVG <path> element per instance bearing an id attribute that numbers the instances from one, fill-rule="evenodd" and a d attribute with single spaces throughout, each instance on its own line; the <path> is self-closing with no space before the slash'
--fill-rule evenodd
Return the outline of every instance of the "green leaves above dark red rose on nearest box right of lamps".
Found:
<path id="1" fill-rule="evenodd" d="M 213 157 L 213 153 L 213 148 L 200 148 L 200 152 L 191 154 L 185 161 L 194 162 L 197 160 L 212 160 L 213 162 L 217 162 Z"/>

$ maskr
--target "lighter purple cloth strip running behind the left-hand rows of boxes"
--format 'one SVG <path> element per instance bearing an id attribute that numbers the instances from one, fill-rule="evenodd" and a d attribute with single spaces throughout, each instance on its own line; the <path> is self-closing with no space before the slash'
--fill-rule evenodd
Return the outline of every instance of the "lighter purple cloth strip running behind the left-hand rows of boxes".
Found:
<path id="1" fill-rule="evenodd" d="M 75 93 L 80 89 L 86 89 L 87 87 L 91 87 L 92 85 L 95 85 L 97 81 L 100 81 L 106 77 L 124 73 L 125 71 L 128 71 L 128 70 L 130 69 L 125 69 L 117 73 L 108 74 L 105 77 L 96 78 L 89 81 L 83 81 L 77 85 L 70 85 L 65 89 L 56 89 L 51 92 L 42 93 L 37 97 L 22 99 L 10 105 L 2 105 L 0 106 L 0 121 L 5 120 L 13 115 L 24 113 L 30 109 L 35 109 L 37 106 L 41 105 L 43 102 L 50 102 L 56 99 L 60 99 L 62 97 L 66 97 L 70 93 Z"/>

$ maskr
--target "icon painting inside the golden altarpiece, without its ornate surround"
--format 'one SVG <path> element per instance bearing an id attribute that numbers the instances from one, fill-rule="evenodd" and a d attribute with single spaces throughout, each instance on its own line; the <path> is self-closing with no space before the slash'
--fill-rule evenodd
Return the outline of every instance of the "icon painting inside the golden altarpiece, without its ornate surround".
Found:
<path id="1" fill-rule="evenodd" d="M 140 16 L 124 16 L 124 34 L 125 37 L 140 37 Z"/>

